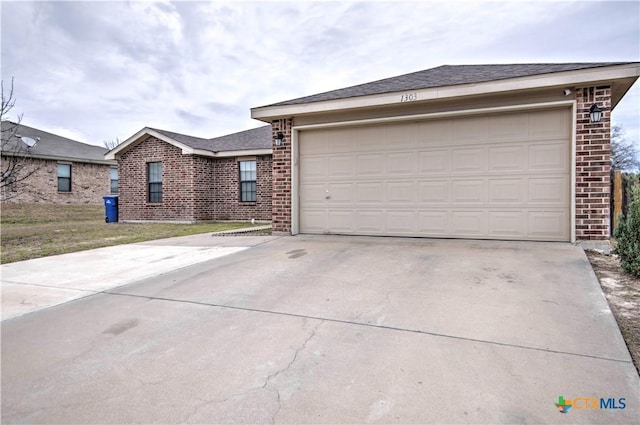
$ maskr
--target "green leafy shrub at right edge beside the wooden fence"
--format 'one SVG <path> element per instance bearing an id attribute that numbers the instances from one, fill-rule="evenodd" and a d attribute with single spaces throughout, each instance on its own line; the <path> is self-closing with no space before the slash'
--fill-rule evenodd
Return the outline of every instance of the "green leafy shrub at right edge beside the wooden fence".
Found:
<path id="1" fill-rule="evenodd" d="M 640 277 L 640 186 L 631 191 L 631 203 L 614 232 L 620 264 L 628 273 Z"/>

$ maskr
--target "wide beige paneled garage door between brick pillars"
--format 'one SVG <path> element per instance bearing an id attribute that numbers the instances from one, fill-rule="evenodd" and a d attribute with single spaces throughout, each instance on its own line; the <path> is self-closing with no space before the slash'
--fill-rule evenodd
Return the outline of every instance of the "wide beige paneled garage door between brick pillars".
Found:
<path id="1" fill-rule="evenodd" d="M 569 109 L 299 133 L 301 233 L 570 240 Z"/>

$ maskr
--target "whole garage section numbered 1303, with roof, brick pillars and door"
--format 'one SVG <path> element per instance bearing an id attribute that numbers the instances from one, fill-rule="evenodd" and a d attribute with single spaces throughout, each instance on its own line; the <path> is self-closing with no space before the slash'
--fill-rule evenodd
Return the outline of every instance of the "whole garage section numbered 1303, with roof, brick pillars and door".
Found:
<path id="1" fill-rule="evenodd" d="M 639 75 L 638 62 L 441 66 L 253 108 L 284 136 L 274 232 L 608 239 L 610 116 Z"/>

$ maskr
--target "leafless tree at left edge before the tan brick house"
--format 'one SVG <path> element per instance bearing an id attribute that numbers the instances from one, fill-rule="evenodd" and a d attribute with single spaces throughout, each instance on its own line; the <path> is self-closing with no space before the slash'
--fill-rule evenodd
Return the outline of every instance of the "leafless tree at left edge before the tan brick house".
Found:
<path id="1" fill-rule="evenodd" d="M 28 157 L 32 146 L 23 142 L 18 134 L 22 115 L 18 115 L 15 122 L 5 121 L 5 118 L 16 103 L 13 97 L 13 78 L 11 79 L 11 87 L 8 89 L 8 93 L 5 93 L 3 81 L 0 81 L 0 91 L 2 92 L 0 199 L 5 201 L 18 195 L 18 188 L 22 185 L 22 182 L 35 173 L 38 167 Z"/>

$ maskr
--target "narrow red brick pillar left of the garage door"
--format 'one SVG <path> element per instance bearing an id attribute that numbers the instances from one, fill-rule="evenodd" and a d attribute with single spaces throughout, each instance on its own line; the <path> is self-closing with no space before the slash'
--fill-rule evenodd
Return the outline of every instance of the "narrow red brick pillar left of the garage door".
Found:
<path id="1" fill-rule="evenodd" d="M 273 209 L 274 232 L 291 232 L 291 127 L 293 120 L 285 118 L 271 123 L 273 137 L 284 133 L 282 146 L 273 146 Z"/>

